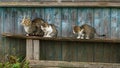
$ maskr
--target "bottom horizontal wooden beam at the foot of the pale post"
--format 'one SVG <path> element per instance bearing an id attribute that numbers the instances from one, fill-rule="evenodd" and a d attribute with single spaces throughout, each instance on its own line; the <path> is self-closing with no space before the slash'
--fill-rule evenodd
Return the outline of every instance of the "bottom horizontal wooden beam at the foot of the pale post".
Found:
<path id="1" fill-rule="evenodd" d="M 30 60 L 32 67 L 65 67 L 65 68 L 120 68 L 118 63 L 97 63 L 97 62 L 67 62 L 67 61 L 37 61 Z"/>

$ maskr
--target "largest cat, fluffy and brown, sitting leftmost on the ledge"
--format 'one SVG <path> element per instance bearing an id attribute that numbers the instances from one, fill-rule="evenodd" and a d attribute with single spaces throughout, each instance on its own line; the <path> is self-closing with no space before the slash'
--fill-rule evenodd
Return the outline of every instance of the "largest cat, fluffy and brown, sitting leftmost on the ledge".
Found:
<path id="1" fill-rule="evenodd" d="M 41 30 L 41 24 L 45 21 L 42 18 L 35 18 L 31 21 L 30 18 L 24 17 L 22 19 L 21 25 L 23 25 L 26 36 L 43 36 L 44 32 Z"/>

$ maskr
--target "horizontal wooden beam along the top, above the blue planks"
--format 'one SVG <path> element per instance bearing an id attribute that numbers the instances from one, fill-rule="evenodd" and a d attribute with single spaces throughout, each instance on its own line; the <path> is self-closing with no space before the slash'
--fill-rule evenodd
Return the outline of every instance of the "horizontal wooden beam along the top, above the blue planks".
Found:
<path id="1" fill-rule="evenodd" d="M 120 7 L 120 2 L 0 2 L 0 7 Z"/>

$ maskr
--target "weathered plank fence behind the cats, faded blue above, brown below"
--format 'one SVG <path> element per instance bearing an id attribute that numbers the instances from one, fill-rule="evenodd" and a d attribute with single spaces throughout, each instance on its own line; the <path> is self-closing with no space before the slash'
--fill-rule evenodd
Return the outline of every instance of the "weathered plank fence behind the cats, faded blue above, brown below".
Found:
<path id="1" fill-rule="evenodd" d="M 106 39 L 120 38 L 119 7 L 0 7 L 0 33 L 25 34 L 20 22 L 23 16 L 40 17 L 55 24 L 58 37 L 74 37 L 74 25 L 89 24 Z M 97 37 L 96 37 L 97 38 Z M 41 60 L 119 63 L 119 43 L 82 43 L 41 40 Z M 25 56 L 25 39 L 3 38 L 0 35 L 0 60 L 7 55 Z"/>

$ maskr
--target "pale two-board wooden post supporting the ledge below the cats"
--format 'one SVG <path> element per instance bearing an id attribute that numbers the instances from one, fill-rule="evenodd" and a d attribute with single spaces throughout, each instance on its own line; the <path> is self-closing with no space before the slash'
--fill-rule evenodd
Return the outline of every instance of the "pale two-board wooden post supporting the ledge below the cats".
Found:
<path id="1" fill-rule="evenodd" d="M 39 60 L 39 40 L 26 39 L 26 58 L 27 60 Z"/>

